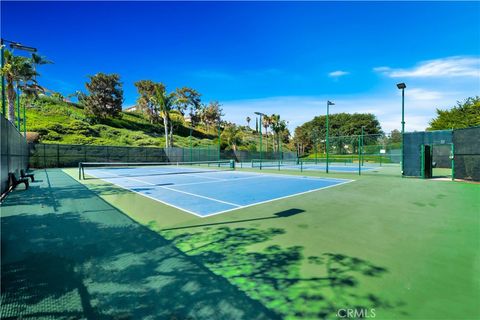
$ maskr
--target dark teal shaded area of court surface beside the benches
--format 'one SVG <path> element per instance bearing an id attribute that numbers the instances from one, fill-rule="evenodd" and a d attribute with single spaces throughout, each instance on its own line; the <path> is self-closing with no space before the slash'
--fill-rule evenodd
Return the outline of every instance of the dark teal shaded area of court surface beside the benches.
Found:
<path id="1" fill-rule="evenodd" d="M 1 319 L 277 316 L 61 170 L 1 210 Z"/>

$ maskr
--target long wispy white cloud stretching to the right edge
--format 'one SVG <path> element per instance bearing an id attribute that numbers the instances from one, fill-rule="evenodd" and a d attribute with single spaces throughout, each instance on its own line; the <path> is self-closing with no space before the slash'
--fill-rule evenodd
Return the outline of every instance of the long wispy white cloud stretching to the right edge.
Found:
<path id="1" fill-rule="evenodd" d="M 373 68 L 390 78 L 480 77 L 480 57 L 455 56 L 422 61 L 410 69 Z"/>

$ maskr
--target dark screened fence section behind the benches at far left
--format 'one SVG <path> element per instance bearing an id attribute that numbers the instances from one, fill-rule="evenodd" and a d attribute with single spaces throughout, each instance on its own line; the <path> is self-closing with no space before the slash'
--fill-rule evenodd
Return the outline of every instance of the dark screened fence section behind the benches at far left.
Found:
<path id="1" fill-rule="evenodd" d="M 15 126 L 0 115 L 0 193 L 8 190 L 8 174 L 20 177 L 20 170 L 28 166 L 28 145 Z"/>

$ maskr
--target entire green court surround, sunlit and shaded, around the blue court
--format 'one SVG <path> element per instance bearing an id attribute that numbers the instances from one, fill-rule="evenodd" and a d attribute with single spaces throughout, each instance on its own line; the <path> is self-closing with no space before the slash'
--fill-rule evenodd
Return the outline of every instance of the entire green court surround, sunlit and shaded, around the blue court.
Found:
<path id="1" fill-rule="evenodd" d="M 2 319 L 480 317 L 479 184 L 281 171 L 355 181 L 200 218 L 35 173 L 1 207 Z"/>

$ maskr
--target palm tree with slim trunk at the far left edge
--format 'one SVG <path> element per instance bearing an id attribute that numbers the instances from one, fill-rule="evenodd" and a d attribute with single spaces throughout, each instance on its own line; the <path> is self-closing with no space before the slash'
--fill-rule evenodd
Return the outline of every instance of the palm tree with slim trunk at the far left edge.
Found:
<path id="1" fill-rule="evenodd" d="M 35 80 L 37 73 L 35 72 L 32 61 L 28 58 L 15 56 L 13 52 L 5 50 L 4 59 L 5 64 L 1 73 L 6 80 L 8 120 L 14 123 L 15 99 L 17 97 L 15 88 L 20 88 L 21 86 L 39 87 Z"/>

